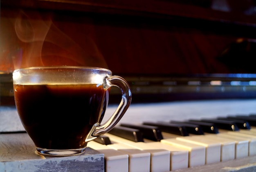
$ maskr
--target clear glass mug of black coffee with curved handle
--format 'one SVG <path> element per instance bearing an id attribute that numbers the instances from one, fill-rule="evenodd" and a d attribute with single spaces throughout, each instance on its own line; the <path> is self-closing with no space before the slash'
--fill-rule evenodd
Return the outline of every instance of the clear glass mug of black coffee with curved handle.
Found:
<path id="1" fill-rule="evenodd" d="M 110 87 L 121 90 L 113 115 L 101 124 Z M 67 156 L 110 131 L 131 103 L 127 82 L 105 68 L 43 66 L 13 71 L 18 115 L 39 154 Z"/>

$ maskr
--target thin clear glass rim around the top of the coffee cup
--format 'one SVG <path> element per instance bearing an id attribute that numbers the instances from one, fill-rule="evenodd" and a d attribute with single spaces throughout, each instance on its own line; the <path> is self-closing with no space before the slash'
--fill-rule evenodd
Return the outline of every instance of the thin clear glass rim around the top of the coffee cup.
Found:
<path id="1" fill-rule="evenodd" d="M 101 68 L 101 67 L 92 67 L 92 66 L 31 66 L 26 68 L 18 68 L 13 71 L 13 73 L 17 71 L 24 71 L 24 70 L 44 70 L 44 69 L 88 69 L 91 71 L 105 71 L 108 73 L 112 73 L 107 68 Z"/>

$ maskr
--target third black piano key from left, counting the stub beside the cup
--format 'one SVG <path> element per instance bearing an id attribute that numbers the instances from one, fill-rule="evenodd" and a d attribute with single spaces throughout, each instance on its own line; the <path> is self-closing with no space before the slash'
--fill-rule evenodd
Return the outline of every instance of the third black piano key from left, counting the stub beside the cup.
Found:
<path id="1" fill-rule="evenodd" d="M 153 141 L 160 141 L 163 139 L 162 132 L 157 126 L 147 126 L 147 125 L 139 125 L 139 124 L 128 124 L 121 123 L 120 126 L 135 128 L 142 132 L 142 136 L 145 139 L 150 139 Z"/>

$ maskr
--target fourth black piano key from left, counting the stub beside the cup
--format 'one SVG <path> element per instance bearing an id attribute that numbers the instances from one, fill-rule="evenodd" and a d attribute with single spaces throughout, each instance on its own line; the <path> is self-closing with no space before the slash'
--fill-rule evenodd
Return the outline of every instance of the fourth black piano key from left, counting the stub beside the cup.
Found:
<path id="1" fill-rule="evenodd" d="M 144 122 L 144 125 L 148 126 L 157 126 L 162 132 L 168 132 L 174 135 L 180 136 L 189 136 L 189 132 L 186 130 L 186 127 L 175 124 L 175 123 L 161 123 L 161 122 Z"/>

